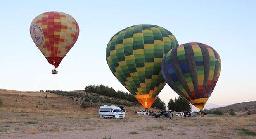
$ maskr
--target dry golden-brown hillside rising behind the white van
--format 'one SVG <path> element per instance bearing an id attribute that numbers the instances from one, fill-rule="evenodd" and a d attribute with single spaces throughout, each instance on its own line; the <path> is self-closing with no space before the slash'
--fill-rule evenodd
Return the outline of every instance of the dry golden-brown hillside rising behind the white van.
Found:
<path id="1" fill-rule="evenodd" d="M 86 92 L 83 90 L 77 90 L 74 92 L 86 94 Z M 0 104 L 0 111 L 2 110 L 8 112 L 12 110 L 12 112 L 98 113 L 101 105 L 118 105 L 115 104 L 116 102 L 122 104 L 122 106 L 128 109 L 131 113 L 144 109 L 142 105 L 132 105 L 132 107 L 129 107 L 125 104 L 130 105 L 130 102 L 118 98 L 106 97 L 95 93 L 87 93 L 87 95 L 90 102 L 86 103 L 90 105 L 90 107 L 83 111 L 83 109 L 80 108 L 80 103 L 84 102 L 81 97 L 71 98 L 47 92 L 0 89 L 0 100 L 2 102 L 2 104 Z M 96 100 L 99 101 L 97 102 Z M 115 103 L 109 103 L 107 101 Z"/>

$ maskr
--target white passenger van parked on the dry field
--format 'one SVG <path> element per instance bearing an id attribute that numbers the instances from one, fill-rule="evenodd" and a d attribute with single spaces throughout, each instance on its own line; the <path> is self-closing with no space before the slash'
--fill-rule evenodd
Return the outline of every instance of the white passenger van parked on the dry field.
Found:
<path id="1" fill-rule="evenodd" d="M 113 106 L 113 105 L 100 106 L 99 116 L 102 118 L 109 117 L 109 118 L 113 118 L 113 119 L 115 119 L 115 118 L 124 119 L 125 118 L 125 108 L 123 110 L 121 110 L 120 107 Z"/>

